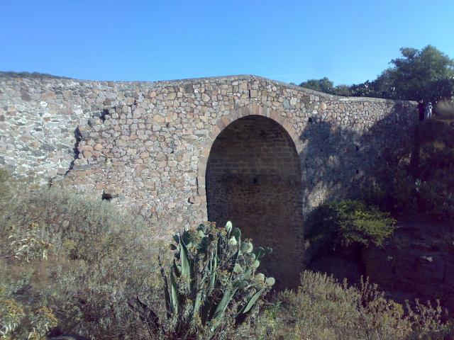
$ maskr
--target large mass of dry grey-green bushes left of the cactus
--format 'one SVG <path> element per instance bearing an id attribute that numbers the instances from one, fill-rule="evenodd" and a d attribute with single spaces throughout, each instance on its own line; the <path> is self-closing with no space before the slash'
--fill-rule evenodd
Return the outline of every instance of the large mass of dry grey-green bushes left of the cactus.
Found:
<path id="1" fill-rule="evenodd" d="M 128 308 L 143 287 L 152 295 L 156 287 L 154 299 L 161 297 L 160 244 L 150 242 L 150 227 L 109 202 L 62 188 L 31 190 L 9 176 L 0 188 L 9 195 L 0 202 L 0 285 L 16 292 L 5 299 L 24 312 L 12 339 L 46 324 L 50 310 L 59 323 L 47 329 L 52 334 L 150 339 Z"/>

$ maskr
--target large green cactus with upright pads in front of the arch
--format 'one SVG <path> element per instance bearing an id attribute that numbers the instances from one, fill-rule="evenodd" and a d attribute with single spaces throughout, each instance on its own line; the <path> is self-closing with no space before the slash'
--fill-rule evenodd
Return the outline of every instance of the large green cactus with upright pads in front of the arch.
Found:
<path id="1" fill-rule="evenodd" d="M 166 324 L 138 299 L 156 333 L 178 339 L 213 339 L 224 327 L 235 327 L 251 314 L 274 285 L 274 278 L 258 273 L 260 259 L 272 249 L 241 240 L 241 232 L 227 222 L 214 223 L 175 234 L 175 252 L 167 272 L 161 266 L 167 310 Z M 226 317 L 228 314 L 228 318 Z"/>

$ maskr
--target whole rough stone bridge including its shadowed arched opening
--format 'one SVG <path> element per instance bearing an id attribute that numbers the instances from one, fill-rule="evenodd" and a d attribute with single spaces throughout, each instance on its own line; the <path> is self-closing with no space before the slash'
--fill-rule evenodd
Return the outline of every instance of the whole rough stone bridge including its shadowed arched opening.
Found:
<path id="1" fill-rule="evenodd" d="M 0 165 L 111 200 L 157 234 L 231 220 L 271 246 L 281 285 L 303 266 L 304 218 L 412 142 L 416 103 L 255 76 L 109 82 L 0 76 Z"/>

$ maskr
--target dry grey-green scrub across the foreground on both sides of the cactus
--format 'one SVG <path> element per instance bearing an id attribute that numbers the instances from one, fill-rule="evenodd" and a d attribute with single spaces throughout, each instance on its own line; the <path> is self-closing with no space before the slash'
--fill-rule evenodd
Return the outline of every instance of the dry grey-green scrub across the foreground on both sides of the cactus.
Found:
<path id="1" fill-rule="evenodd" d="M 140 295 L 166 314 L 157 265 L 165 245 L 149 241 L 150 226 L 109 202 L 60 188 L 31 190 L 0 176 L 4 339 L 173 339 L 153 332 L 150 314 L 131 310 Z M 228 313 L 236 314 L 231 306 Z M 247 322 L 223 322 L 214 335 L 181 339 L 450 339 L 441 307 L 418 303 L 411 310 L 367 282 L 349 287 L 311 272 L 296 292 L 259 301 Z"/>

